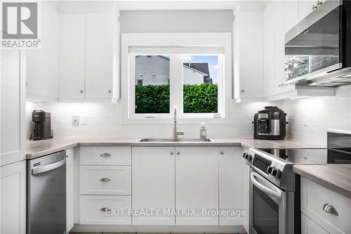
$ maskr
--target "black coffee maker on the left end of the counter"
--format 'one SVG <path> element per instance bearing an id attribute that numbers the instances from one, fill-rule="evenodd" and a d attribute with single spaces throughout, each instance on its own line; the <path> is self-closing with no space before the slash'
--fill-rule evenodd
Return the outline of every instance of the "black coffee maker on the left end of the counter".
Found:
<path id="1" fill-rule="evenodd" d="M 45 140 L 53 138 L 51 136 L 51 113 L 43 110 L 34 110 L 32 112 L 32 122 L 34 129 L 30 134 L 29 140 Z"/>

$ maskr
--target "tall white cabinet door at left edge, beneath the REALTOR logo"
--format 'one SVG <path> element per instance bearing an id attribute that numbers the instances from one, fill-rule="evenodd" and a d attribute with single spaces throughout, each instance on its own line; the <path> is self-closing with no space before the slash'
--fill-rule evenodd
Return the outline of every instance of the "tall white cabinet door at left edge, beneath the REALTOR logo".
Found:
<path id="1" fill-rule="evenodd" d="M 0 166 L 25 160 L 24 53 L 1 50 Z"/>

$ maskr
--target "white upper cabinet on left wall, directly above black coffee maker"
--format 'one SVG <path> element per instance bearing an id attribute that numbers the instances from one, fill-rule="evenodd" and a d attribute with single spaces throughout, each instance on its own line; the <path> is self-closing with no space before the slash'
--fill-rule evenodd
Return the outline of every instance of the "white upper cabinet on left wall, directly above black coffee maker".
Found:
<path id="1" fill-rule="evenodd" d="M 58 98 L 58 40 L 59 13 L 56 6 L 43 1 L 41 14 L 41 43 L 39 49 L 27 50 L 27 98 L 57 100 Z"/>

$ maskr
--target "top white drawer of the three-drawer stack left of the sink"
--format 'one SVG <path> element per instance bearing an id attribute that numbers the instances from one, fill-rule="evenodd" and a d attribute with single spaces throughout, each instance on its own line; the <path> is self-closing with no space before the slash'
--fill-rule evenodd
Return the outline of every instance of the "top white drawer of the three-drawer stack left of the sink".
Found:
<path id="1" fill-rule="evenodd" d="M 131 146 L 81 146 L 81 165 L 131 165 Z"/>

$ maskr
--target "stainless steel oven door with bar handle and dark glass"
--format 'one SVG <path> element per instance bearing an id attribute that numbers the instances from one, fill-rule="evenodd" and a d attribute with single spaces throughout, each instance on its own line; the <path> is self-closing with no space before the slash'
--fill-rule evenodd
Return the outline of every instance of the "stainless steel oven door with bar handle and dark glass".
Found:
<path id="1" fill-rule="evenodd" d="M 293 233 L 293 215 L 288 216 L 286 193 L 250 169 L 250 234 Z M 291 223 L 292 220 L 292 223 Z"/>

